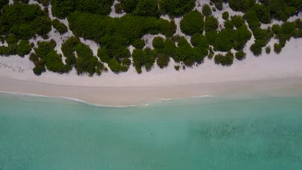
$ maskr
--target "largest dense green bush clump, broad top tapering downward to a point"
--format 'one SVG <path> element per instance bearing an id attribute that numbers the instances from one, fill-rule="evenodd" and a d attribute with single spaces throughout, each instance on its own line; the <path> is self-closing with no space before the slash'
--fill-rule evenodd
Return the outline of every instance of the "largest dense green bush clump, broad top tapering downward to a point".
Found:
<path id="1" fill-rule="evenodd" d="M 121 18 L 108 16 L 72 13 L 68 17 L 70 29 L 76 36 L 92 39 L 107 49 L 111 58 L 130 57 L 127 49 L 135 40 L 147 33 L 162 33 L 166 37 L 176 32 L 174 22 L 156 17 L 125 15 Z M 115 66 L 115 65 L 114 65 Z"/>

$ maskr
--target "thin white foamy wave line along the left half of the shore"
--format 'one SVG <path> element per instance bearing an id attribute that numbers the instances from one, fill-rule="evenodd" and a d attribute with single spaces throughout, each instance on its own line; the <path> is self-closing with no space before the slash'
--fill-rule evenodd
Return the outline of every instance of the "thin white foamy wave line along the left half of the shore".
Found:
<path id="1" fill-rule="evenodd" d="M 63 97 L 63 96 L 46 96 L 46 95 L 39 95 L 39 94 L 32 94 L 32 93 L 22 93 L 22 92 L 7 92 L 7 91 L 0 91 L 0 93 L 6 93 L 6 94 L 13 94 L 13 95 L 23 95 L 23 96 L 32 96 L 32 97 L 44 97 L 44 98 L 62 98 L 67 100 L 76 101 L 78 103 L 87 104 L 92 107 L 100 107 L 100 108 L 132 108 L 132 107 L 145 107 L 148 106 L 147 104 L 141 104 L 141 105 L 103 105 L 103 104 L 96 104 L 91 103 L 85 100 L 80 100 L 77 98 L 72 97 Z"/>

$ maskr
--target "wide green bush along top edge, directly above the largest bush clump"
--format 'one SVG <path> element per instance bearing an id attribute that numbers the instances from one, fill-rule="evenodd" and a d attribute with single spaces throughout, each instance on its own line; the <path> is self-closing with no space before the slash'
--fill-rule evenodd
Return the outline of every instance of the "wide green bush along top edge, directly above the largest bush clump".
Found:
<path id="1" fill-rule="evenodd" d="M 107 15 L 114 0 L 51 0 L 52 14 L 60 19 L 74 11 Z"/>

